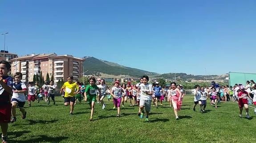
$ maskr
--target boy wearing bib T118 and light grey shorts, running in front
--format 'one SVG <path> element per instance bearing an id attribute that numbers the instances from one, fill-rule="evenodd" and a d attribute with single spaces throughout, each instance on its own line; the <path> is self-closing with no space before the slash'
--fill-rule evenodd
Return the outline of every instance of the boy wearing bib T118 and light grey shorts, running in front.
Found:
<path id="1" fill-rule="evenodd" d="M 139 106 L 140 106 L 140 117 L 143 118 L 143 113 L 141 111 L 144 110 L 144 107 L 145 107 L 145 110 L 146 110 L 146 119 L 145 119 L 145 122 L 149 122 L 149 112 L 150 112 L 150 108 L 151 108 L 151 96 L 152 96 L 152 85 L 150 85 L 148 83 L 149 81 L 149 77 L 144 75 L 142 77 L 142 81 L 143 83 L 140 84 L 138 86 L 138 93 L 137 94 L 140 94 L 140 101 L 139 101 Z M 138 97 L 139 95 L 137 95 Z"/>

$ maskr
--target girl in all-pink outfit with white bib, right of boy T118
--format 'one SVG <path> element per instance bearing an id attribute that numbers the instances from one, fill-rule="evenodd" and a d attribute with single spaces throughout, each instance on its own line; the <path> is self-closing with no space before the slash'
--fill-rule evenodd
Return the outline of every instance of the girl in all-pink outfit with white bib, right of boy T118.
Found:
<path id="1" fill-rule="evenodd" d="M 171 83 L 170 93 L 171 93 L 171 102 L 173 105 L 174 114 L 176 116 L 176 120 L 179 120 L 178 110 L 180 110 L 181 108 L 181 92 L 179 91 L 179 89 L 176 88 L 175 82 Z"/>

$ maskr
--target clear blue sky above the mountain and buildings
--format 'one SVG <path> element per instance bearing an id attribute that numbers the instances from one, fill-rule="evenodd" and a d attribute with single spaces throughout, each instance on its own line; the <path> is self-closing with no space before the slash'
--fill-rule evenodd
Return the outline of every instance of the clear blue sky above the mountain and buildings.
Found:
<path id="1" fill-rule="evenodd" d="M 256 0 L 2 0 L 5 31 L 18 55 L 93 56 L 157 73 L 256 71 Z"/>

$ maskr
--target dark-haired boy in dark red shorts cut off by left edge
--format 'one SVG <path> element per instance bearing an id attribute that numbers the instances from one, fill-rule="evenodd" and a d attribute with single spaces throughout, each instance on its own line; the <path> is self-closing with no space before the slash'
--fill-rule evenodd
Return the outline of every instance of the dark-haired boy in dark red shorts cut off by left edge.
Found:
<path id="1" fill-rule="evenodd" d="M 2 142 L 7 143 L 8 123 L 11 120 L 12 104 L 12 77 L 8 76 L 11 65 L 7 61 L 0 61 L 0 126 L 2 130 Z"/>

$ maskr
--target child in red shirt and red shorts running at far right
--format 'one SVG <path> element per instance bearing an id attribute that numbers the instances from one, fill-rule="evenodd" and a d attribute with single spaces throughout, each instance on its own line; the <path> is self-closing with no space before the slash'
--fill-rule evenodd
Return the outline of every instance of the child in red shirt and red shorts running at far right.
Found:
<path id="1" fill-rule="evenodd" d="M 243 111 L 243 107 L 245 108 L 245 113 L 246 113 L 246 118 L 249 119 L 249 108 L 248 108 L 248 99 L 247 97 L 249 97 L 252 100 L 252 97 L 250 97 L 250 95 L 248 94 L 248 92 L 245 91 L 244 86 L 240 87 L 241 91 L 238 93 L 238 106 L 240 108 L 239 111 L 239 116 L 242 117 L 242 111 Z"/>

